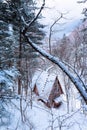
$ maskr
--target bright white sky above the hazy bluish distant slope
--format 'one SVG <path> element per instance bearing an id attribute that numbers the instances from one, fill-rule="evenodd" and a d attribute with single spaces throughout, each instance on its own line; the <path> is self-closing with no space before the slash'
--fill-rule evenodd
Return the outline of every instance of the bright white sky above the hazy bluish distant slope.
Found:
<path id="1" fill-rule="evenodd" d="M 59 12 L 69 12 L 71 18 L 80 18 L 81 12 L 85 4 L 78 4 L 77 0 L 46 0 L 46 7 L 52 9 L 45 9 L 43 14 L 51 17 L 56 17 Z"/>

